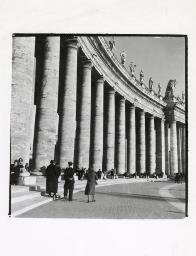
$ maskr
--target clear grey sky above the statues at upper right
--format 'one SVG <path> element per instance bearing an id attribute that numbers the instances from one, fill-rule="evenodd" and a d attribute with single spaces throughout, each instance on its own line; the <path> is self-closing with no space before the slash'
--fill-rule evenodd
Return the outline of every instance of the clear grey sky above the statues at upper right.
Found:
<path id="1" fill-rule="evenodd" d="M 110 37 L 105 37 L 109 42 Z M 158 92 L 158 83 L 162 86 L 165 96 L 167 83 L 176 79 L 177 85 L 174 95 L 181 98 L 185 91 L 185 38 L 184 37 L 114 37 L 116 42 L 116 57 L 121 61 L 120 52 L 127 54 L 125 67 L 134 61 L 136 64 L 134 75 L 140 80 L 143 70 L 144 83 L 149 86 L 149 78 L 154 82 L 154 91 Z"/>

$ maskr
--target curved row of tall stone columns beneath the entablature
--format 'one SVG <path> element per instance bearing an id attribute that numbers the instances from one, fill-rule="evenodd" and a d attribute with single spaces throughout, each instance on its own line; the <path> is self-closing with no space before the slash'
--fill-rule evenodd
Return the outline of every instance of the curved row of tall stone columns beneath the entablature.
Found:
<path id="1" fill-rule="evenodd" d="M 44 174 L 45 167 L 54 159 L 57 111 L 56 158 L 61 168 L 73 161 L 74 167 L 91 167 L 95 171 L 109 171 L 116 167 L 119 175 L 125 171 L 137 171 L 138 174 L 163 171 L 172 176 L 178 171 L 185 173 L 185 125 L 176 126 L 175 120 L 168 122 L 164 115 L 163 118 L 156 117 L 125 100 L 102 75 L 98 75 L 96 67 L 92 72 L 90 59 L 78 60 L 80 45 L 76 38 L 65 39 L 63 45 L 65 72 L 58 97 L 60 37 L 45 37 L 43 70 L 36 96 L 33 174 Z M 33 123 L 35 88 L 34 54 L 35 37 L 13 38 L 12 161 L 19 157 L 29 161 L 29 129 Z M 78 74 L 80 79 L 77 79 Z M 104 108 L 106 83 L 107 107 Z"/>

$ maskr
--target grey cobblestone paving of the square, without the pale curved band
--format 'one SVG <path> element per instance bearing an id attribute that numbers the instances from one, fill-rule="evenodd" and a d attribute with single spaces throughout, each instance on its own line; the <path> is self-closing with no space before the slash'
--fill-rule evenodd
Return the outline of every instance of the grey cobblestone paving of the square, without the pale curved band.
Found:
<path id="1" fill-rule="evenodd" d="M 73 202 L 58 199 L 18 217 L 37 218 L 93 218 L 93 219 L 183 219 L 185 213 L 172 206 L 158 193 L 169 182 L 118 184 L 96 187 L 96 202 L 87 203 L 84 191 L 73 195 Z M 171 190 L 178 198 L 185 198 L 185 185 Z M 91 197 L 92 198 L 92 197 Z M 175 198 L 171 198 L 176 200 Z"/>

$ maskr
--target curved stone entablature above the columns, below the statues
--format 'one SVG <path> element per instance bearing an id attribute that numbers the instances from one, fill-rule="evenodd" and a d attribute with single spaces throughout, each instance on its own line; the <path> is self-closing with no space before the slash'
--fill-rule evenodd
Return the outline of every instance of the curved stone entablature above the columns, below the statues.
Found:
<path id="1" fill-rule="evenodd" d="M 113 54 L 110 50 L 105 50 L 98 37 L 91 37 L 91 39 L 90 37 L 78 37 L 78 42 L 85 56 L 91 59 L 94 68 L 104 76 L 105 81 L 116 92 L 136 107 L 162 118 L 163 107 L 167 106 L 167 103 L 143 88 L 136 78 L 132 77 L 124 67 L 121 67 L 122 65 L 117 59 L 114 63 Z M 114 57 L 116 58 L 116 56 Z"/>

